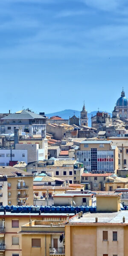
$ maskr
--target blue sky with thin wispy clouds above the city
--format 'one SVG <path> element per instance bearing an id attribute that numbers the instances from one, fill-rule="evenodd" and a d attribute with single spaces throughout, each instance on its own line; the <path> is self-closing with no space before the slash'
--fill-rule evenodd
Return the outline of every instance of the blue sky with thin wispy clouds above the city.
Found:
<path id="1" fill-rule="evenodd" d="M 0 0 L 0 113 L 113 111 L 128 97 L 127 0 Z"/>

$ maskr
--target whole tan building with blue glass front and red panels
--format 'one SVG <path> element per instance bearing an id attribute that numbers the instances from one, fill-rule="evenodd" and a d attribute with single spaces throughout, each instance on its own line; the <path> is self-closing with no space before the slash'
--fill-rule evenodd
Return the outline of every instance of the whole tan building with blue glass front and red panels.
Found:
<path id="1" fill-rule="evenodd" d="M 118 148 L 109 140 L 84 140 L 76 146 L 76 160 L 87 172 L 114 172 L 118 169 Z"/>

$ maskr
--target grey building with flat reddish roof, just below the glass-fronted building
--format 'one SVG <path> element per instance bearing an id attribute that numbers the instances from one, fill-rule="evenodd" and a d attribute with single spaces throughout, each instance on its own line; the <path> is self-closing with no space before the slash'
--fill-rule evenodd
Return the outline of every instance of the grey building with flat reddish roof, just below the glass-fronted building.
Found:
<path id="1" fill-rule="evenodd" d="M 84 184 L 85 190 L 105 191 L 105 178 L 108 173 L 82 173 L 81 184 Z"/>

